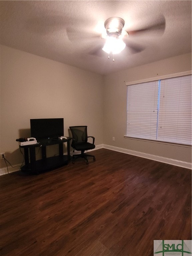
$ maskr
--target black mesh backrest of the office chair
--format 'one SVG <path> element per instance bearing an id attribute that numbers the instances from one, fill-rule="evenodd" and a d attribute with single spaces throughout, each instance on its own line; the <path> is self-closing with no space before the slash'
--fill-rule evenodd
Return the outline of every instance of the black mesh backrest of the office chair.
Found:
<path id="1" fill-rule="evenodd" d="M 70 126 L 73 143 L 87 142 L 87 126 Z"/>

